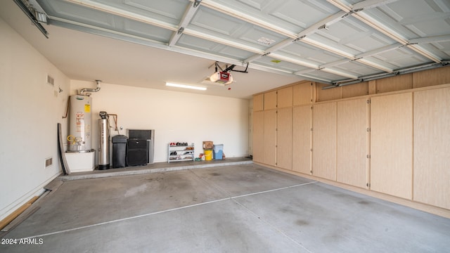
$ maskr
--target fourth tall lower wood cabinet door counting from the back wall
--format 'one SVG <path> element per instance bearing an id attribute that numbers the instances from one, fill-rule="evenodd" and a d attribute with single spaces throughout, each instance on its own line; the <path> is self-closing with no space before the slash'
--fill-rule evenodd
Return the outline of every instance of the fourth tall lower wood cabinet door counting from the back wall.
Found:
<path id="1" fill-rule="evenodd" d="M 293 170 L 311 174 L 311 105 L 293 108 Z"/>

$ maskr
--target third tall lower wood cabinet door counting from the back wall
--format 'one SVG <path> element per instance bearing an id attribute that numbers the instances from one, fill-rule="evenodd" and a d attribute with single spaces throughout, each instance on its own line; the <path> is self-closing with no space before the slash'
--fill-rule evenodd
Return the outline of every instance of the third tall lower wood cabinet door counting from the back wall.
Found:
<path id="1" fill-rule="evenodd" d="M 276 166 L 292 169 L 293 108 L 278 109 L 276 125 Z"/>

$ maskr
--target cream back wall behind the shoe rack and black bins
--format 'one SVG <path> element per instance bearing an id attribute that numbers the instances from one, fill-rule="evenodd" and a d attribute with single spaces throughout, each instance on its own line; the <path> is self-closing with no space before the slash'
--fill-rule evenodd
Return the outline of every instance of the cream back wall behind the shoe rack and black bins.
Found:
<path id="1" fill-rule="evenodd" d="M 72 80 L 75 94 L 96 83 Z M 249 100 L 101 83 L 92 93 L 92 147 L 98 149 L 98 112 L 118 115 L 118 126 L 155 129 L 155 162 L 167 162 L 167 144 L 195 143 L 195 157 L 203 141 L 224 144 L 226 157 L 248 155 Z M 113 124 L 113 118 L 110 117 Z M 117 131 L 111 131 L 115 136 Z"/>

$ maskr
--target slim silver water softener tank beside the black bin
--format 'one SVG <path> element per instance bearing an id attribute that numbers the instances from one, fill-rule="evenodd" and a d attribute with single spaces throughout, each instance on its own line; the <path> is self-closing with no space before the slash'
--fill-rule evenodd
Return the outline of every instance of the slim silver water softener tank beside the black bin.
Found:
<path id="1" fill-rule="evenodd" d="M 98 119 L 98 169 L 110 168 L 110 124 L 108 114 L 100 112 Z"/>

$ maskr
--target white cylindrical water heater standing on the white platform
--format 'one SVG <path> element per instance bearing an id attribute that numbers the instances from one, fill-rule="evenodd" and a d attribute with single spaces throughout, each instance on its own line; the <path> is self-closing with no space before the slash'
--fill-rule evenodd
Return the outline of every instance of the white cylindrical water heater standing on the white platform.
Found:
<path id="1" fill-rule="evenodd" d="M 70 96 L 69 101 L 68 152 L 91 152 L 92 98 L 75 95 Z"/>

